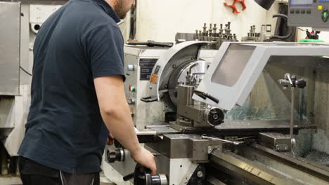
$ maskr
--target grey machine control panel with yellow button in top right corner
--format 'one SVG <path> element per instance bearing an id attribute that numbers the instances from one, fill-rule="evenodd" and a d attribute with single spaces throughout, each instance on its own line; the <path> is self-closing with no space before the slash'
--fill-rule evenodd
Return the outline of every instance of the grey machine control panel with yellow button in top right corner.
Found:
<path id="1" fill-rule="evenodd" d="M 329 29 L 329 0 L 290 0 L 288 25 Z"/>

